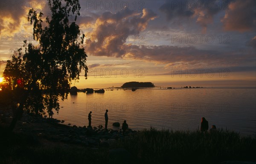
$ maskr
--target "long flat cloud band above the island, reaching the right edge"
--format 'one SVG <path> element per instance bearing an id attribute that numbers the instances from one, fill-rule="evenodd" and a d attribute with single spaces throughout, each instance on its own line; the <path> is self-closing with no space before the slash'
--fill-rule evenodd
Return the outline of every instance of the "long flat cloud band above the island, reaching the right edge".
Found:
<path id="1" fill-rule="evenodd" d="M 244 52 L 230 51 L 229 53 L 224 53 L 220 51 L 200 50 L 193 46 L 178 47 L 170 45 L 133 45 L 132 48 L 129 45 L 126 46 L 126 57 L 147 60 L 151 62 L 165 63 L 167 68 L 191 68 L 191 66 L 206 68 L 222 65 L 236 66 L 247 63 L 246 59 L 248 58 L 255 59 L 253 54 L 245 55 Z"/>

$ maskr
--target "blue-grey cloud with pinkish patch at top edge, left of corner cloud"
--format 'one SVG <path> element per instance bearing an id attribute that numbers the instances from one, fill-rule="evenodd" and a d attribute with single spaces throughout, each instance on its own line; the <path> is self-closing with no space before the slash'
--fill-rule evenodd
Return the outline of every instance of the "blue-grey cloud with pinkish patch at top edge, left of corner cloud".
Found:
<path id="1" fill-rule="evenodd" d="M 195 21 L 202 27 L 205 34 L 207 26 L 213 23 L 213 17 L 220 11 L 224 11 L 230 1 L 220 5 L 219 0 L 203 0 L 203 1 L 177 1 L 171 0 L 164 3 L 159 10 L 166 14 L 167 20 L 175 20 L 172 23 L 191 23 Z M 186 22 L 184 22 L 186 20 Z"/>

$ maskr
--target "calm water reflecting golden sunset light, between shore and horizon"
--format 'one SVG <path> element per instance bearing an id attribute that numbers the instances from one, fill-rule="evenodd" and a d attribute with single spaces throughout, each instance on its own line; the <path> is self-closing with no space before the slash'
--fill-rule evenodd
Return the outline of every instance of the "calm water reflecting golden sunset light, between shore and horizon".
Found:
<path id="1" fill-rule="evenodd" d="M 256 136 L 255 88 L 194 88 L 106 90 L 105 93 L 78 93 L 60 101 L 57 119 L 64 124 L 88 125 L 92 111 L 92 126 L 104 126 L 108 109 L 109 126 L 127 120 L 133 130 L 153 126 L 157 129 L 195 130 L 204 116 L 209 127 L 235 130 L 242 135 Z"/>

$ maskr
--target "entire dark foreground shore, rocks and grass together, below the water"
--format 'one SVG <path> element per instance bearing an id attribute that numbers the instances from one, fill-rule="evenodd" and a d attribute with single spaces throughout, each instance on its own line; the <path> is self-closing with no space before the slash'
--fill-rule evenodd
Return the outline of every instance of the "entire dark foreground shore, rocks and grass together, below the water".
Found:
<path id="1" fill-rule="evenodd" d="M 120 130 L 68 126 L 59 122 L 57 119 L 23 114 L 13 133 L 0 135 L 0 152 L 3 152 L 0 163 L 256 162 L 253 153 L 256 151 L 256 138 L 242 137 L 233 131 L 221 130 L 211 134 L 150 128 L 142 131 L 129 129 L 122 134 Z"/>

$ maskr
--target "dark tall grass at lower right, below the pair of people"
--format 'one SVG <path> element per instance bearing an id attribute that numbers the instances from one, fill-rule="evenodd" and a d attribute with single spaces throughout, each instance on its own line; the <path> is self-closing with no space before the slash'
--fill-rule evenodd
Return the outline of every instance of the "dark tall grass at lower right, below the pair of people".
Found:
<path id="1" fill-rule="evenodd" d="M 255 161 L 256 139 L 241 138 L 239 133 L 218 130 L 200 131 L 143 130 L 119 141 L 132 153 L 135 163 L 195 163 L 216 164 L 227 160 Z"/>

